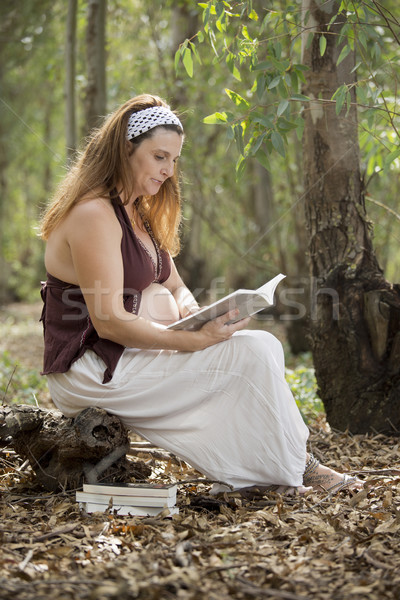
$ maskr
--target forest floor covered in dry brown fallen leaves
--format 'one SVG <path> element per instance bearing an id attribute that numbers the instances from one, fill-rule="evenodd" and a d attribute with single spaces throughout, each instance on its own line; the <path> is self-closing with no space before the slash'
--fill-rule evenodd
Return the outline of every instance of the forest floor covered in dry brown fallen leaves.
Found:
<path id="1" fill-rule="evenodd" d="M 32 372 L 42 358 L 39 311 L 0 313 L 0 351 Z M 45 389 L 38 402 L 48 407 Z M 179 514 L 88 515 L 73 492 L 43 491 L 0 448 L 0 599 L 400 598 L 399 440 L 332 432 L 323 417 L 309 426 L 314 454 L 359 475 L 362 491 L 215 498 L 189 465 L 156 452 L 139 456 L 154 480 L 179 482 Z"/>

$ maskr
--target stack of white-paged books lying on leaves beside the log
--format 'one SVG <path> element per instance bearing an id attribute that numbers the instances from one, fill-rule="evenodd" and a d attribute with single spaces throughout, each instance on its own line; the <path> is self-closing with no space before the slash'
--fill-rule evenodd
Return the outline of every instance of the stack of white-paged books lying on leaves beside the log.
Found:
<path id="1" fill-rule="evenodd" d="M 165 511 L 167 516 L 179 512 L 176 490 L 176 484 L 84 483 L 83 491 L 76 492 L 76 501 L 88 513 L 111 509 L 119 515 L 146 517 Z"/>

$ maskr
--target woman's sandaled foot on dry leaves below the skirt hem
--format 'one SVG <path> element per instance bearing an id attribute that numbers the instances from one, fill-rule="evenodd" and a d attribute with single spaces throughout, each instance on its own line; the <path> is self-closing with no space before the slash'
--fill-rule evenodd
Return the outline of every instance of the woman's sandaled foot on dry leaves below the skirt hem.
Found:
<path id="1" fill-rule="evenodd" d="M 312 454 L 307 455 L 303 484 L 327 494 L 336 494 L 342 489 L 360 490 L 364 485 L 357 477 L 351 477 L 346 473 L 338 473 L 329 467 L 321 465 L 319 460 Z"/>

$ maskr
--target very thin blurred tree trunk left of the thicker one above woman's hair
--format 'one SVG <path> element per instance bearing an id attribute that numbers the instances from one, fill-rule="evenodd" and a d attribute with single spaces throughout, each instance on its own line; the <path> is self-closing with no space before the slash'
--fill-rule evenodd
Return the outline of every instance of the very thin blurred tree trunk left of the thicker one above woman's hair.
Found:
<path id="1" fill-rule="evenodd" d="M 67 162 L 73 159 L 76 151 L 75 63 L 77 8 L 78 0 L 68 0 L 65 43 L 65 137 Z"/>

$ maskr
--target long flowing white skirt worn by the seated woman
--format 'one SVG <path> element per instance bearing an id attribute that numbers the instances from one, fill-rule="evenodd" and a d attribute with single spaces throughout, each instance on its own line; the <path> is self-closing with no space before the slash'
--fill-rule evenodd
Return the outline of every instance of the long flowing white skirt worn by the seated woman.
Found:
<path id="1" fill-rule="evenodd" d="M 302 485 L 308 429 L 270 333 L 240 331 L 198 352 L 126 349 L 107 384 L 104 369 L 87 351 L 67 373 L 48 375 L 55 405 L 67 417 L 104 408 L 233 489 Z"/>

